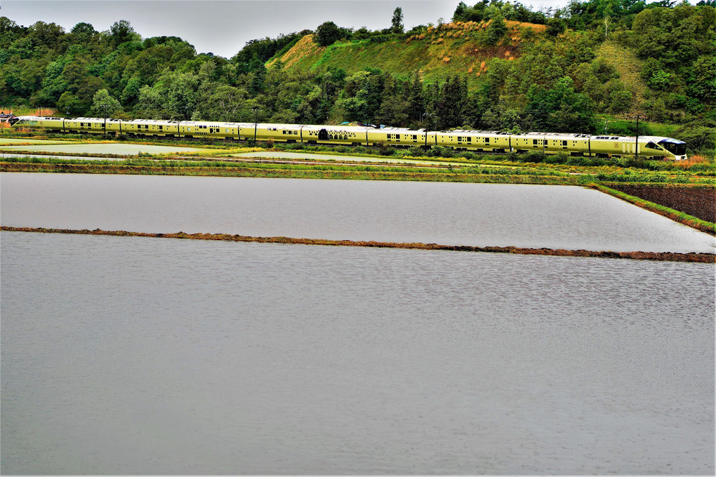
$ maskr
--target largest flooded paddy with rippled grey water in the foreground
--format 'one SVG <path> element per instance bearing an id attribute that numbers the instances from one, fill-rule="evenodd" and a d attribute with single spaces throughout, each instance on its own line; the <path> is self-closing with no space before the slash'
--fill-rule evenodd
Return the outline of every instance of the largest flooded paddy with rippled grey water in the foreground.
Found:
<path id="1" fill-rule="evenodd" d="M 0 248 L 6 474 L 714 472 L 713 265 Z"/>

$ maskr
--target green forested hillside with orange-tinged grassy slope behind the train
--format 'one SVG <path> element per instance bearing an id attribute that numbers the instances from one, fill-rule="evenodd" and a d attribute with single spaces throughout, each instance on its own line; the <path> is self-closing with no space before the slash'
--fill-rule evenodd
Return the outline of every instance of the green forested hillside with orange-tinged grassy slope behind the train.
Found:
<path id="1" fill-rule="evenodd" d="M 102 32 L 79 23 L 67 32 L 0 17 L 0 106 L 74 116 L 614 133 L 629 132 L 614 119 L 639 114 L 679 124 L 675 134 L 693 148 L 712 149 L 714 3 L 572 0 L 531 11 L 518 2 L 460 2 L 450 21 L 410 31 L 395 9 L 384 30 L 326 22 L 251 41 L 231 59 L 196 54 L 176 36 L 142 39 L 126 21 Z"/>

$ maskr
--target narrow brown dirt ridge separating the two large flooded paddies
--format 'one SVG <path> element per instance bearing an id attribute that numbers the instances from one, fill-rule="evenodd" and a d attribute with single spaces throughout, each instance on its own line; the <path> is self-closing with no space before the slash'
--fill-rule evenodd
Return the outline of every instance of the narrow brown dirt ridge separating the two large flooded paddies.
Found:
<path id="1" fill-rule="evenodd" d="M 149 233 L 127 232 L 126 230 L 75 230 L 75 229 L 49 229 L 40 227 L 9 227 L 3 225 L 0 230 L 4 232 L 39 232 L 74 235 L 112 235 L 115 237 L 150 237 L 173 238 L 183 240 L 218 240 L 224 242 L 258 242 L 258 243 L 285 243 L 297 245 L 329 245 L 339 247 L 377 247 L 402 248 L 414 250 L 452 250 L 455 252 L 491 252 L 513 253 L 519 255 L 554 255 L 558 257 L 596 257 L 596 258 L 626 258 L 630 260 L 657 260 L 663 262 L 701 262 L 716 263 L 716 254 L 713 253 L 678 253 L 678 252 L 611 252 L 607 250 L 566 250 L 552 248 L 525 248 L 525 247 L 473 247 L 470 245 L 439 245 L 435 243 L 420 242 L 374 242 L 357 240 L 326 240 L 295 237 L 251 237 L 250 235 L 231 234 L 205 234 L 185 232 L 175 233 Z"/>

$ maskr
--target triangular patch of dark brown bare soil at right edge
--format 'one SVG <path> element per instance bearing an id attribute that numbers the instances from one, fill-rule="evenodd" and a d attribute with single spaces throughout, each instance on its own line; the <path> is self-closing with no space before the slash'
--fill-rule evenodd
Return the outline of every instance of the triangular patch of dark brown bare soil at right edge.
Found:
<path id="1" fill-rule="evenodd" d="M 627 185 L 609 187 L 701 220 L 716 222 L 716 189 Z"/>

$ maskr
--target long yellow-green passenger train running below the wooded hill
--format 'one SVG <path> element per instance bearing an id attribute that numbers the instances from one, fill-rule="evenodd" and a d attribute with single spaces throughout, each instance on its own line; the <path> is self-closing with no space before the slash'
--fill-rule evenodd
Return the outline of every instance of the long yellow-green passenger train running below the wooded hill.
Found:
<path id="1" fill-rule="evenodd" d="M 499 131 L 427 131 L 397 127 L 329 126 L 316 124 L 266 124 L 247 122 L 160 121 L 154 119 L 102 119 L 96 117 L 37 117 L 21 116 L 11 119 L 12 127 L 31 127 L 52 132 L 86 134 L 125 134 L 138 137 L 213 137 L 237 141 L 301 142 L 304 144 L 334 144 L 347 146 L 395 147 L 442 146 L 474 152 L 529 152 L 545 154 L 565 153 L 588 157 L 634 157 L 637 152 L 644 159 L 684 160 L 686 143 L 659 136 L 591 136 L 589 134 L 561 134 L 529 132 L 510 134 Z"/>

